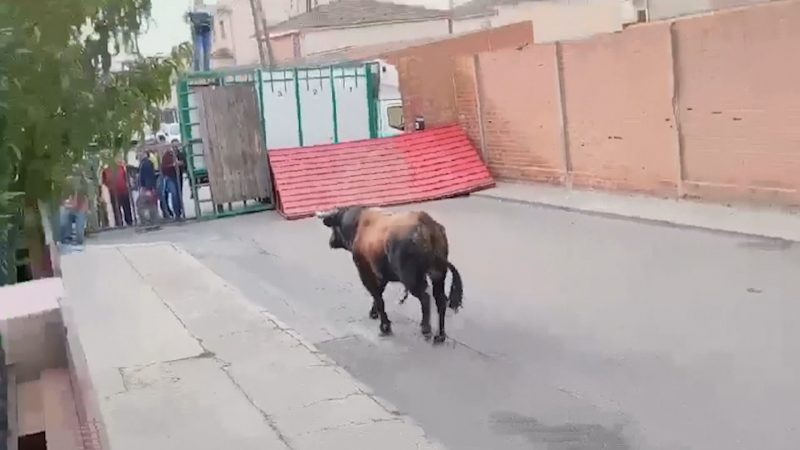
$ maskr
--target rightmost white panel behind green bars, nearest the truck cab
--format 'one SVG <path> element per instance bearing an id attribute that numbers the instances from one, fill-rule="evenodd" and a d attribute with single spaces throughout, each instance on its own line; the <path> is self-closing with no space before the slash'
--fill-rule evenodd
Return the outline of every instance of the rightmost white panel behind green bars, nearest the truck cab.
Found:
<path id="1" fill-rule="evenodd" d="M 333 80 L 339 142 L 369 139 L 366 69 L 335 68 Z"/>

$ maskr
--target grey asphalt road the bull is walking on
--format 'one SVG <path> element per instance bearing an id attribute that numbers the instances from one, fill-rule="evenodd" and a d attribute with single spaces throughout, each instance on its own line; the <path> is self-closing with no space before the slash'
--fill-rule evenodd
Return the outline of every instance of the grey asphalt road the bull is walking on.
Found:
<path id="1" fill-rule="evenodd" d="M 800 448 L 800 245 L 476 197 L 416 208 L 465 282 L 442 347 L 399 287 L 378 337 L 315 219 L 94 242 L 179 242 L 452 450 Z"/>

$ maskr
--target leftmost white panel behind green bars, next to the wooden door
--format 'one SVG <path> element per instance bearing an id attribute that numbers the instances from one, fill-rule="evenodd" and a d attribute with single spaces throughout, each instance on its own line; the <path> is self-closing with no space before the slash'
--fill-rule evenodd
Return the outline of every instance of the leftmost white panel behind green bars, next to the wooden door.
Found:
<path id="1" fill-rule="evenodd" d="M 261 110 L 264 114 L 267 150 L 299 147 L 294 72 L 264 72 L 262 79 Z"/>

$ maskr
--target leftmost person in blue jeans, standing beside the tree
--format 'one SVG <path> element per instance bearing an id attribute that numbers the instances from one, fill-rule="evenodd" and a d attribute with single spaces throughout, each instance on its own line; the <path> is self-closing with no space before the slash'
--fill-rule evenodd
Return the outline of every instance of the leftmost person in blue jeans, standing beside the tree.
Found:
<path id="1" fill-rule="evenodd" d="M 86 218 L 89 211 L 89 182 L 79 170 L 66 180 L 61 207 L 59 208 L 60 236 L 62 245 L 70 243 L 76 250 L 83 249 L 86 237 Z M 73 239 L 73 224 L 75 236 Z"/>

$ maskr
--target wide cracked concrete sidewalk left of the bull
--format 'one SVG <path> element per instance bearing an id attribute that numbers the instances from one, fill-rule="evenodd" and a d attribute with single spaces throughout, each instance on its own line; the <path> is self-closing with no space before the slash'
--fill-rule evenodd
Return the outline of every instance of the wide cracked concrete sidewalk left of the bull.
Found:
<path id="1" fill-rule="evenodd" d="M 62 264 L 110 450 L 444 448 L 172 244 Z"/>

